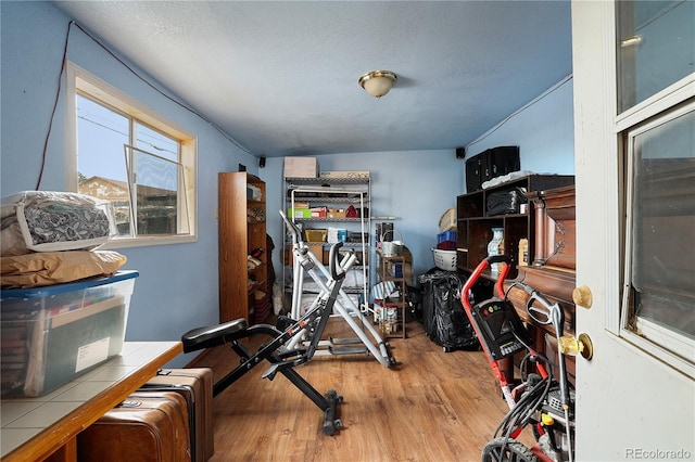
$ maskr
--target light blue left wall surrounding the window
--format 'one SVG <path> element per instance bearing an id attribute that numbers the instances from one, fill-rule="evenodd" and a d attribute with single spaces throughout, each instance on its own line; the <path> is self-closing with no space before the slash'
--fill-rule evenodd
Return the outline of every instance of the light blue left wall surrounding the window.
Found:
<path id="1" fill-rule="evenodd" d="M 5 196 L 36 188 L 71 18 L 47 2 L 3 1 L 0 8 L 3 115 L 0 190 Z M 67 59 L 198 134 L 198 242 L 118 251 L 128 258 L 125 268 L 140 272 L 126 339 L 178 339 L 191 328 L 217 322 L 217 172 L 236 170 L 239 163 L 254 171 L 257 161 L 206 121 L 153 91 L 77 28 L 71 33 Z M 67 188 L 64 113 L 61 92 L 42 190 Z M 174 365 L 184 362 L 180 358 Z"/>

